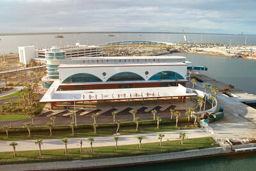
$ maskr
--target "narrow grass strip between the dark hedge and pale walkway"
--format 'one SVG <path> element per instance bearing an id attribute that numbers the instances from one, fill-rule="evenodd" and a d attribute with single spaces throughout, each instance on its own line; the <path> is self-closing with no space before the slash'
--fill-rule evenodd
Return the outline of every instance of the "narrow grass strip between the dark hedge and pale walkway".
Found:
<path id="1" fill-rule="evenodd" d="M 156 128 L 156 125 L 152 126 L 139 126 L 138 131 L 136 131 L 136 126 L 132 127 L 124 127 L 120 126 L 120 130 L 118 133 L 125 135 L 125 134 L 132 134 L 132 133 L 150 133 L 156 131 L 173 131 L 173 130 L 183 130 L 183 129 L 191 129 L 195 128 L 193 124 L 188 123 L 180 123 L 179 128 L 175 128 L 173 124 L 163 124 L 159 126 L 159 129 Z M 79 129 L 75 130 L 75 134 L 72 135 L 72 130 L 63 130 L 63 131 L 54 131 L 52 130 L 52 136 L 50 136 L 49 131 L 36 131 L 31 132 L 31 137 L 28 137 L 28 133 L 9 133 L 8 138 L 6 138 L 5 134 L 1 134 L 0 138 L 2 140 L 26 140 L 26 139 L 46 139 L 46 138 L 72 138 L 72 137 L 94 137 L 94 136 L 104 136 L 104 135 L 113 135 L 116 131 L 116 128 L 98 128 L 97 133 L 94 133 L 92 129 Z"/>

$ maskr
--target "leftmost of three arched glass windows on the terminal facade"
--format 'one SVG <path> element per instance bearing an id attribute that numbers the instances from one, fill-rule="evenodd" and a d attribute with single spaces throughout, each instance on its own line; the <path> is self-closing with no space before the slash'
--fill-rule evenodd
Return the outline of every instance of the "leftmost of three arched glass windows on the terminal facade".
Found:
<path id="1" fill-rule="evenodd" d="M 75 75 L 71 75 L 63 81 L 63 83 L 69 82 L 102 82 L 102 80 L 90 73 L 77 73 Z"/>

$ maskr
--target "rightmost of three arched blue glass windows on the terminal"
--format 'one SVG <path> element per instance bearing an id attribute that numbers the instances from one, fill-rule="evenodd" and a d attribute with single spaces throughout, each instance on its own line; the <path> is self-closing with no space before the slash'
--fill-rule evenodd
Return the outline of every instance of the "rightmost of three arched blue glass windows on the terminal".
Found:
<path id="1" fill-rule="evenodd" d="M 173 72 L 173 71 L 162 71 L 159 73 L 156 73 L 152 77 L 150 77 L 148 80 L 175 80 L 175 78 L 184 79 L 179 73 Z"/>

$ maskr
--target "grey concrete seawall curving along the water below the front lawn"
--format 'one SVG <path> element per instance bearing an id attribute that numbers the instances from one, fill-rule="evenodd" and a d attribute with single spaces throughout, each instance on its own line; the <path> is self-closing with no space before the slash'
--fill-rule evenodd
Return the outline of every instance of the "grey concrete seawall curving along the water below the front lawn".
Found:
<path id="1" fill-rule="evenodd" d="M 136 165 L 141 163 L 158 163 L 163 161 L 186 160 L 188 158 L 202 158 L 205 156 L 214 156 L 223 153 L 224 151 L 221 147 L 213 147 L 208 149 L 197 149 L 181 152 L 170 152 L 164 154 L 130 156 L 121 158 L 1 165 L 1 170 L 68 170 L 72 168 L 76 168 L 76 170 L 85 170 L 90 168 L 104 168 L 124 165 Z"/>

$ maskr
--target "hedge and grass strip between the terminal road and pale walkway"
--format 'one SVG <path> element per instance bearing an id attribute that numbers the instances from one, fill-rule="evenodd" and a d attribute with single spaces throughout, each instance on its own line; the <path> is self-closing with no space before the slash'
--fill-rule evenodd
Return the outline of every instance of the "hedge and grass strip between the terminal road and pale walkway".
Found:
<path id="1" fill-rule="evenodd" d="M 74 135 L 72 135 L 72 128 L 68 125 L 53 126 L 52 136 L 50 135 L 47 126 L 31 126 L 31 136 L 28 137 L 28 128 L 15 127 L 8 128 L 8 138 L 6 137 L 6 130 L 1 129 L 0 138 L 2 140 L 24 140 L 24 139 L 38 139 L 38 138 L 72 138 L 72 137 L 93 137 L 102 135 L 113 135 L 116 133 L 117 124 L 102 123 L 97 124 L 97 133 L 94 133 L 92 124 L 80 124 L 74 128 Z M 136 123 L 125 122 L 120 123 L 118 133 L 132 134 L 132 133 L 150 133 L 156 131 L 172 131 L 195 128 L 193 121 L 188 123 L 188 118 L 180 118 L 178 127 L 175 127 L 175 119 L 162 119 L 157 129 L 157 121 L 139 121 L 138 131 L 136 131 Z"/>

